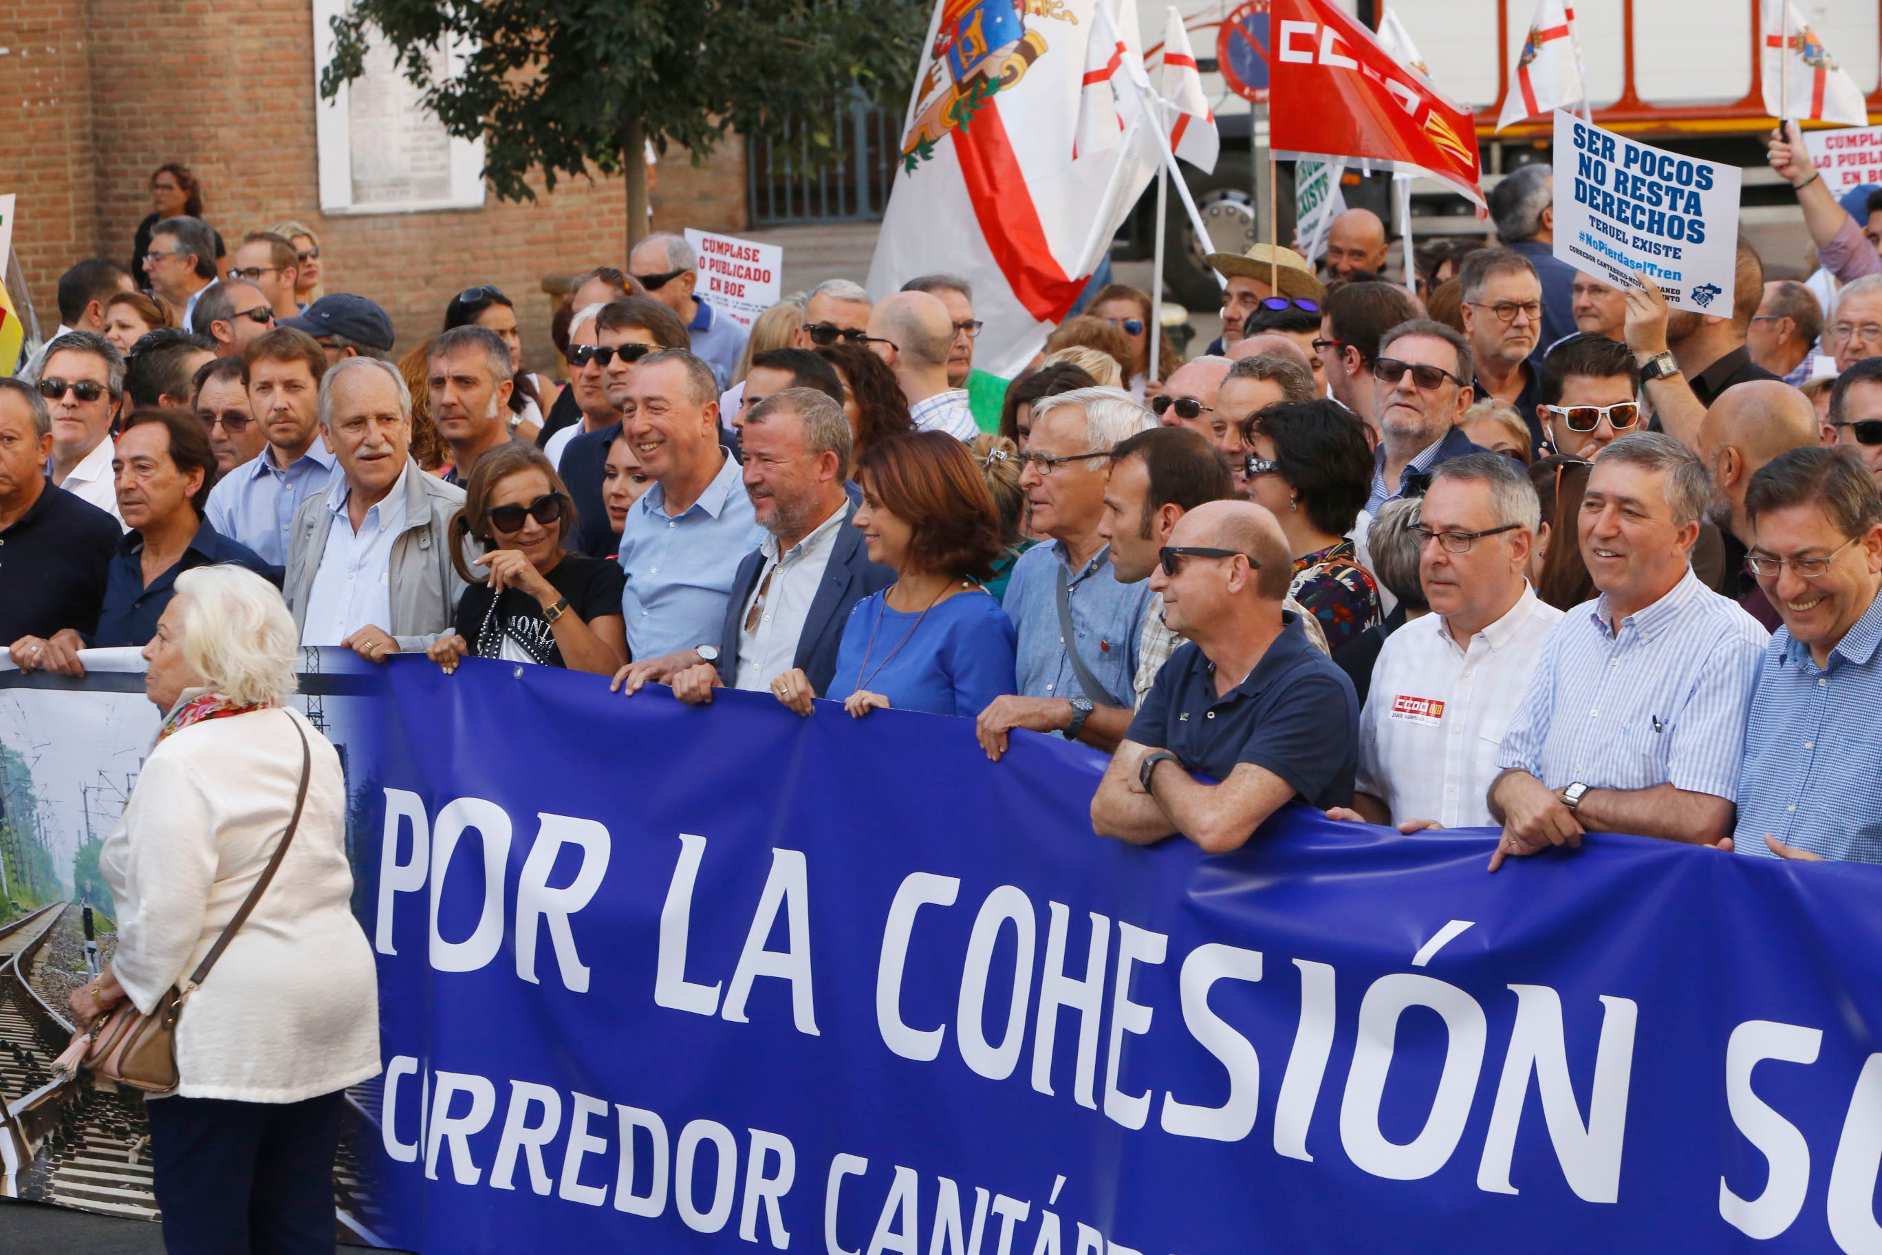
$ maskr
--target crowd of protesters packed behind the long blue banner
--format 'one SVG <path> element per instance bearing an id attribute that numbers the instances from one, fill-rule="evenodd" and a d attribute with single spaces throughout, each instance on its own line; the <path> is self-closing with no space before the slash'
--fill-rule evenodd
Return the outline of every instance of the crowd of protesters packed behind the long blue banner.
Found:
<path id="1" fill-rule="evenodd" d="M 1124 841 L 1233 850 L 1304 802 L 1500 828 L 1492 871 L 1590 830 L 1882 862 L 1882 254 L 1799 145 L 1771 166 L 1827 275 L 1741 243 L 1730 312 L 1556 262 L 1532 166 L 1415 290 L 1363 209 L 1323 269 L 1212 254 L 1223 335 L 1188 361 L 1103 286 L 982 414 L 958 277 L 830 278 L 747 329 L 651 235 L 572 278 L 551 380 L 482 282 L 393 357 L 311 230 L 230 252 L 166 166 L 134 271 L 73 265 L 0 380 L 0 640 L 73 675 L 145 647 L 166 734 L 258 719 L 294 645 L 339 645 L 962 717 L 996 762 L 1082 741 Z M 216 615 L 260 625 L 265 683 L 215 692 L 241 668 L 184 634 Z M 280 1086 L 250 1089 L 311 1095 Z"/>

